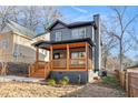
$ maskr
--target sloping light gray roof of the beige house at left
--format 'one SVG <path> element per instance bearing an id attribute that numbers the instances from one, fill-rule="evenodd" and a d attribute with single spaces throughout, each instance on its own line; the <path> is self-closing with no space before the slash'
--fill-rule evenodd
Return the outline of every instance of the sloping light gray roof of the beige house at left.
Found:
<path id="1" fill-rule="evenodd" d="M 12 31 L 14 33 L 20 33 L 20 34 L 26 35 L 28 38 L 33 38 L 37 35 L 33 31 L 31 31 L 31 30 L 24 28 L 23 25 L 20 25 L 17 22 L 13 22 L 11 20 L 7 20 L 6 27 L 2 30 L 2 32 L 6 32 L 6 31 Z"/>

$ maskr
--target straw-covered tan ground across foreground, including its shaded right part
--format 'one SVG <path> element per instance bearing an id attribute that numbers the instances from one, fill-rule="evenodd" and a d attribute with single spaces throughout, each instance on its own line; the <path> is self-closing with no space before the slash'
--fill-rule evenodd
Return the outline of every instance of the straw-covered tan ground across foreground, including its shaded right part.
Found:
<path id="1" fill-rule="evenodd" d="M 124 96 L 115 89 L 97 84 L 49 86 L 34 83 L 9 82 L 0 83 L 0 97 L 118 97 Z"/>

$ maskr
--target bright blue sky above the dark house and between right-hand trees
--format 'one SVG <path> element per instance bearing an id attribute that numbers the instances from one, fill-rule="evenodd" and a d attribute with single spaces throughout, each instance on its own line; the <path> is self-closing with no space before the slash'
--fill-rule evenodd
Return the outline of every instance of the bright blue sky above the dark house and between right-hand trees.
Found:
<path id="1" fill-rule="evenodd" d="M 99 6 L 99 7 L 98 6 L 62 6 L 62 7 L 59 7 L 59 10 L 63 14 L 63 21 L 67 23 L 73 22 L 73 21 L 90 21 L 90 20 L 92 20 L 92 16 L 97 14 L 97 13 L 99 13 L 101 16 L 101 20 L 107 20 L 114 13 L 112 10 L 110 9 L 110 7 L 106 7 L 106 6 Z M 126 13 L 126 22 L 127 22 L 127 19 L 130 19 L 136 13 L 138 13 L 138 7 L 128 7 L 127 13 Z M 134 22 L 131 24 L 131 27 L 135 27 L 136 34 L 137 34 L 138 21 Z M 108 27 L 108 28 L 110 28 L 110 27 Z M 137 60 L 135 58 L 138 54 L 137 51 L 131 50 L 131 51 L 127 52 L 126 54 L 129 58 Z M 117 54 L 118 50 L 117 49 L 114 50 L 112 53 Z"/>

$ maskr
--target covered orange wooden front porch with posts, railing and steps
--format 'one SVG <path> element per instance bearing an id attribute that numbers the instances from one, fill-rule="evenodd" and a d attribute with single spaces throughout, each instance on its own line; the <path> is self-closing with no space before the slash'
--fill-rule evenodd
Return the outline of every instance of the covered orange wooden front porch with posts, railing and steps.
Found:
<path id="1" fill-rule="evenodd" d="M 56 71 L 89 71 L 93 69 L 92 47 L 83 42 L 73 43 L 52 43 L 36 47 L 36 62 L 30 69 L 29 75 L 39 74 L 48 78 L 50 72 Z M 39 49 L 49 51 L 49 61 L 39 61 Z M 33 69 L 32 69 L 33 68 Z"/>

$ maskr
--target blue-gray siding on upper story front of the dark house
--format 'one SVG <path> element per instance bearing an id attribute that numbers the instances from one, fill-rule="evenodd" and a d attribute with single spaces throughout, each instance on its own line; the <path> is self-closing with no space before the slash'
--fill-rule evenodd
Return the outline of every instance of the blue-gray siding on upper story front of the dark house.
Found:
<path id="1" fill-rule="evenodd" d="M 91 25 L 81 27 L 81 28 L 86 28 L 86 38 L 92 38 L 92 27 Z M 56 41 L 56 32 L 58 32 L 58 31 L 60 31 L 62 33 L 62 40 L 72 40 L 73 38 L 71 37 L 71 30 L 72 29 L 68 29 L 62 24 L 57 24 L 50 32 L 50 40 Z"/>

